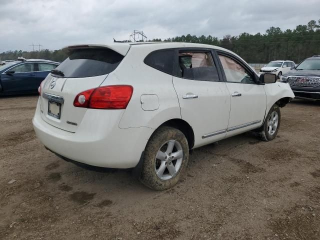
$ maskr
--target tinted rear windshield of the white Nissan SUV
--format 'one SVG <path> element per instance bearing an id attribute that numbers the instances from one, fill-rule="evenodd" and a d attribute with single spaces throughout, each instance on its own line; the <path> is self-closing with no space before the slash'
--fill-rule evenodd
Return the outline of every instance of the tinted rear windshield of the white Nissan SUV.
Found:
<path id="1" fill-rule="evenodd" d="M 63 77 L 99 76 L 113 71 L 122 59 L 121 54 L 108 48 L 76 49 L 55 69 L 62 71 Z"/>

